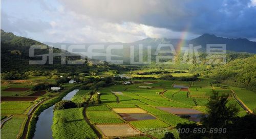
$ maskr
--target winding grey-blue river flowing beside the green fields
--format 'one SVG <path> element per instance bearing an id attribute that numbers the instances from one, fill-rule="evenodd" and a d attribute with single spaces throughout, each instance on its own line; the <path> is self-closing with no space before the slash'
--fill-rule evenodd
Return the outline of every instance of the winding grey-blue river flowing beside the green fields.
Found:
<path id="1" fill-rule="evenodd" d="M 78 89 L 75 89 L 69 92 L 62 100 L 71 100 L 75 95 Z M 45 109 L 38 116 L 38 121 L 36 123 L 34 139 L 49 139 L 52 137 L 51 126 L 53 124 L 53 106 Z"/>

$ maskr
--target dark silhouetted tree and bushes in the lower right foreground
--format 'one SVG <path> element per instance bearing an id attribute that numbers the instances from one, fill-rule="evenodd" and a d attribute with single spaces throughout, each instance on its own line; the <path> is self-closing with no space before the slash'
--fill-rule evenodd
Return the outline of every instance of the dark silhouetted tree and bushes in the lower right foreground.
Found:
<path id="1" fill-rule="evenodd" d="M 228 134 L 232 134 L 231 129 L 229 127 L 236 127 L 234 123 L 235 121 L 239 121 L 239 117 L 236 115 L 239 112 L 239 109 L 236 105 L 227 105 L 228 103 L 228 95 L 219 96 L 218 92 L 214 91 L 214 94 L 210 97 L 210 100 L 207 104 L 207 117 L 203 117 L 201 119 L 201 125 L 196 123 L 193 124 L 178 124 L 178 129 L 189 129 L 189 131 L 193 131 L 194 129 L 203 129 L 205 128 L 207 131 L 211 129 L 217 128 L 218 130 L 227 129 L 227 133 L 182 133 L 180 132 L 180 138 L 232 138 L 229 137 Z M 256 125 L 254 123 L 254 125 Z M 240 132 L 241 133 L 241 132 Z M 243 133 L 241 133 L 243 134 Z"/>

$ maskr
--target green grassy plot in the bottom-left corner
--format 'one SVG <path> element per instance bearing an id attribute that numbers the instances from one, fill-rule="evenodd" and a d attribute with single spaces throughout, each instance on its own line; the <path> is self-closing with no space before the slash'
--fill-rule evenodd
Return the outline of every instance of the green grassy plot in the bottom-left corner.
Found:
<path id="1" fill-rule="evenodd" d="M 1 129 L 1 138 L 17 138 L 25 118 L 12 118 L 7 121 Z"/>

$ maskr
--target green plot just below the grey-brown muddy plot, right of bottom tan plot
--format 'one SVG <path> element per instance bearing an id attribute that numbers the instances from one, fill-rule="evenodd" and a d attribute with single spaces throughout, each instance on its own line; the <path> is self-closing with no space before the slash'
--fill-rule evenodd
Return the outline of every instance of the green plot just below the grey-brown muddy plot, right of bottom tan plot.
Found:
<path id="1" fill-rule="evenodd" d="M 130 122 L 133 126 L 138 128 L 140 131 L 148 131 L 156 128 L 169 127 L 168 124 L 164 123 L 161 120 L 140 120 L 140 121 L 132 121 Z"/>

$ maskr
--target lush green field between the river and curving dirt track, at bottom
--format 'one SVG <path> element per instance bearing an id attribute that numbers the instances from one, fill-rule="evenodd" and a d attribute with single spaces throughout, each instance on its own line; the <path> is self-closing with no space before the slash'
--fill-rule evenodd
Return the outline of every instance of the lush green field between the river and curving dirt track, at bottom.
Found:
<path id="1" fill-rule="evenodd" d="M 54 111 L 53 138 L 97 138 L 97 135 L 83 119 L 83 108 Z"/>

